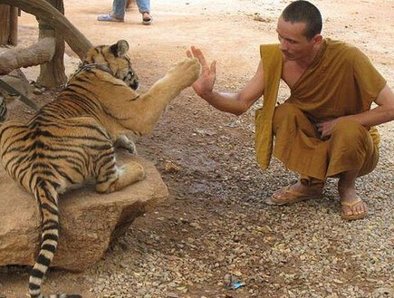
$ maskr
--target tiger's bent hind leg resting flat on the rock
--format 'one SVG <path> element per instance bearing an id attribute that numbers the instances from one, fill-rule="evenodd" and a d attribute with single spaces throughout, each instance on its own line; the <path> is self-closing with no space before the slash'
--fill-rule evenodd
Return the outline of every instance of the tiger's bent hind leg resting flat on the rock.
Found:
<path id="1" fill-rule="evenodd" d="M 96 191 L 111 193 L 129 186 L 145 178 L 144 168 L 135 161 L 118 167 L 115 163 L 115 154 L 110 162 L 97 169 Z"/>

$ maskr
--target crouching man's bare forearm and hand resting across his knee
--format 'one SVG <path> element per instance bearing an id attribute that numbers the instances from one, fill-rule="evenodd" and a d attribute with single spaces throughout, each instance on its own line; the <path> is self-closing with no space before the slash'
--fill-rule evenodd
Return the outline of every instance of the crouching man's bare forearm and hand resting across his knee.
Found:
<path id="1" fill-rule="evenodd" d="M 332 134 L 332 128 L 335 122 L 340 120 L 355 120 L 365 127 L 372 127 L 394 120 L 394 93 L 388 85 L 383 87 L 374 102 L 378 106 L 370 111 L 364 111 L 360 114 L 343 116 L 335 120 L 318 123 L 317 128 L 322 133 L 322 139 Z"/>

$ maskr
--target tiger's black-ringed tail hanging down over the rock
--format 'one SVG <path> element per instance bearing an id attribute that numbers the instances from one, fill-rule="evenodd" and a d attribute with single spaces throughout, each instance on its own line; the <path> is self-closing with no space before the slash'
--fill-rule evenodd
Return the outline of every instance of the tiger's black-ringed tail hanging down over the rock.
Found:
<path id="1" fill-rule="evenodd" d="M 31 298 L 82 298 L 78 294 L 43 295 L 41 287 L 59 240 L 59 208 L 58 193 L 49 182 L 41 181 L 35 189 L 35 198 L 41 212 L 41 247 L 29 278 L 29 294 Z"/>

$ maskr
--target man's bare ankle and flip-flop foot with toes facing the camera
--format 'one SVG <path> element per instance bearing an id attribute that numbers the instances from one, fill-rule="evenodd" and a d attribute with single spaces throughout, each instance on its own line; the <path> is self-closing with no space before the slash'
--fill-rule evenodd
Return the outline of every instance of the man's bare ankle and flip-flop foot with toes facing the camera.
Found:
<path id="1" fill-rule="evenodd" d="M 357 196 L 356 178 L 359 171 L 344 172 L 338 181 L 338 192 L 341 198 L 342 216 L 346 219 L 358 219 L 366 215 L 367 205 Z"/>

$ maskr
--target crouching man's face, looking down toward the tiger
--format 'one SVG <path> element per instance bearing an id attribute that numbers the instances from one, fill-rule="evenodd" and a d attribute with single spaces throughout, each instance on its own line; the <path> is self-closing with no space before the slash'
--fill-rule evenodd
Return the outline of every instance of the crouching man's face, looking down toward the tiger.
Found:
<path id="1" fill-rule="evenodd" d="M 303 32 L 305 23 L 286 22 L 281 16 L 278 20 L 276 32 L 278 33 L 279 48 L 288 60 L 299 60 L 311 55 L 315 38 L 308 40 Z"/>

